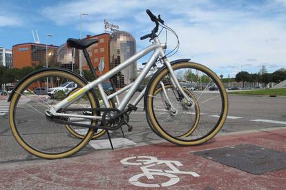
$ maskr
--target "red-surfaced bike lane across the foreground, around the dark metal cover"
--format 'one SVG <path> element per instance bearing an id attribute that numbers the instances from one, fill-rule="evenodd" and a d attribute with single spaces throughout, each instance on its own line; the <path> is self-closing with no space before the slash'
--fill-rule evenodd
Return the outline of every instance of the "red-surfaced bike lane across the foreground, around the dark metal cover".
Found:
<path id="1" fill-rule="evenodd" d="M 238 144 L 286 152 L 286 129 L 223 135 L 200 146 L 166 142 L 61 160 L 1 164 L 0 189 L 286 189 L 286 169 L 254 175 L 192 153 Z"/>

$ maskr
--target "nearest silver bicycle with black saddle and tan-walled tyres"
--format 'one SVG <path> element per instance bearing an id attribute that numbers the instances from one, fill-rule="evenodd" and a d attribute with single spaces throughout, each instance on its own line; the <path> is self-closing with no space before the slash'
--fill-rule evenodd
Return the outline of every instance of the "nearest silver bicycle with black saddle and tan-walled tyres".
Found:
<path id="1" fill-rule="evenodd" d="M 120 129 L 124 125 L 130 131 L 129 115 L 137 110 L 141 99 L 144 99 L 149 126 L 169 142 L 181 146 L 202 144 L 220 131 L 227 117 L 228 101 L 219 77 L 209 68 L 190 59 L 170 62 L 166 41 L 161 43 L 157 33 L 159 27 L 166 32 L 175 32 L 164 24 L 160 15 L 155 17 L 150 10 L 146 12 L 155 23 L 155 28 L 140 39 L 150 39 L 152 44 L 93 82 L 88 83 L 71 70 L 62 68 L 37 70 L 19 82 L 8 99 L 9 121 L 12 133 L 23 149 L 40 158 L 65 158 L 83 149 L 90 139 L 108 131 Z M 86 48 L 95 43 L 96 39 L 67 41 L 68 46 L 83 50 L 90 65 Z M 103 82 L 150 52 L 153 54 L 132 84 L 110 95 L 106 94 Z M 150 73 L 150 70 L 157 68 L 156 64 L 162 64 L 162 67 Z M 95 72 L 94 68 L 90 69 Z M 151 75 L 149 84 L 131 103 L 131 98 L 144 78 Z M 59 91 L 53 99 L 43 93 L 36 95 L 32 91 L 47 84 L 55 87 L 66 82 L 75 84 L 74 91 Z M 184 84 L 191 85 L 191 88 Z M 218 91 L 209 91 L 212 86 L 216 86 Z M 116 96 L 123 92 L 126 94 L 119 102 Z M 117 104 L 113 104 L 114 98 Z"/>

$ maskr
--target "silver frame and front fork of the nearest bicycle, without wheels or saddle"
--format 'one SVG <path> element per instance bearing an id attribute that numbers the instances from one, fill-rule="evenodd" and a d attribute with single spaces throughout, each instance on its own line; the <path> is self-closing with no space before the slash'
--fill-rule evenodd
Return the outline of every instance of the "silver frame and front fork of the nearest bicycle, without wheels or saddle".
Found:
<path id="1" fill-rule="evenodd" d="M 137 78 L 135 79 L 133 84 L 128 86 L 128 88 L 130 88 L 130 89 L 126 93 L 125 97 L 122 99 L 122 102 L 120 102 L 120 104 L 118 104 L 117 109 L 119 109 L 120 111 L 123 111 L 124 108 L 126 108 L 128 102 L 133 97 L 138 86 L 140 86 L 143 79 L 146 77 L 146 75 L 148 75 L 149 70 L 151 70 L 151 67 L 153 66 L 153 64 L 155 63 L 155 61 L 158 58 L 162 59 L 164 64 L 166 64 L 166 67 L 168 68 L 169 73 L 170 73 L 169 77 L 171 79 L 172 85 L 175 86 L 175 88 L 178 88 L 178 91 L 180 91 L 180 93 L 182 93 L 182 95 L 184 96 L 185 99 L 188 100 L 188 102 L 192 102 L 191 98 L 189 96 L 187 96 L 186 93 L 184 93 L 184 91 L 182 90 L 182 86 L 180 86 L 178 79 L 175 77 L 175 73 L 173 72 L 171 64 L 170 64 L 169 60 L 166 59 L 166 57 L 165 57 L 164 49 L 166 49 L 166 44 L 161 44 L 158 37 L 155 37 L 152 45 L 148 46 L 147 48 L 144 48 L 139 53 L 133 55 L 132 57 L 130 57 L 129 59 L 124 61 L 122 64 L 120 64 L 119 66 L 116 66 L 115 68 L 109 70 L 108 73 L 105 73 L 104 75 L 98 77 L 93 82 L 90 82 L 89 84 L 87 84 L 86 86 L 81 88 L 79 91 L 74 93 L 73 95 L 70 95 L 70 96 L 66 97 L 65 99 L 61 100 L 61 102 L 59 102 L 58 104 L 56 104 L 55 106 L 50 108 L 48 111 L 46 111 L 46 114 L 55 115 L 55 116 L 82 117 L 82 118 L 88 118 L 88 119 L 101 119 L 102 117 L 100 117 L 100 116 L 57 113 L 57 111 L 59 111 L 61 108 L 65 108 L 65 107 L 69 106 L 70 104 L 73 104 L 73 102 L 75 102 L 77 99 L 82 97 L 84 95 L 84 93 L 90 91 L 91 89 L 95 88 L 96 86 L 99 90 L 100 95 L 102 96 L 102 100 L 104 102 L 104 105 L 106 106 L 106 108 L 110 108 L 111 106 L 108 102 L 108 96 L 104 93 L 104 89 L 102 88 L 102 82 L 105 82 L 106 79 L 113 77 L 114 75 L 119 73 L 121 70 L 123 70 L 127 66 L 130 66 L 131 64 L 133 64 L 138 59 L 144 57 L 144 55 L 150 53 L 152 50 L 154 50 L 153 55 L 151 55 L 149 61 L 146 63 L 142 72 L 140 73 L 140 75 L 137 76 Z M 125 90 L 126 89 L 124 89 L 124 91 Z M 113 97 L 113 94 L 111 95 L 111 97 Z M 140 101 L 140 99 L 139 99 L 139 101 Z M 137 101 L 137 102 L 139 102 L 139 101 Z"/>

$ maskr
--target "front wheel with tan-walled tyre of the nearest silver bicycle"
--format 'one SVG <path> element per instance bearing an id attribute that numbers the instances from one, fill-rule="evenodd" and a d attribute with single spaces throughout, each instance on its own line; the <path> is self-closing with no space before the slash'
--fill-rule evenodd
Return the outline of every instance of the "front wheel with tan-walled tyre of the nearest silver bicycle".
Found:
<path id="1" fill-rule="evenodd" d="M 228 110 L 225 88 L 218 76 L 201 64 L 180 62 L 173 64 L 172 68 L 181 86 L 192 90 L 189 97 L 192 95 L 193 105 L 181 98 L 180 91 L 172 85 L 166 91 L 171 105 L 165 108 L 166 97 L 157 93 L 162 82 L 172 84 L 169 70 L 164 68 L 153 76 L 146 89 L 147 120 L 160 137 L 174 144 L 188 146 L 207 142 L 225 123 Z M 209 91 L 211 87 L 217 87 L 218 91 Z M 196 122 L 193 117 L 196 104 L 200 106 L 200 121 L 186 135 L 186 131 Z"/>

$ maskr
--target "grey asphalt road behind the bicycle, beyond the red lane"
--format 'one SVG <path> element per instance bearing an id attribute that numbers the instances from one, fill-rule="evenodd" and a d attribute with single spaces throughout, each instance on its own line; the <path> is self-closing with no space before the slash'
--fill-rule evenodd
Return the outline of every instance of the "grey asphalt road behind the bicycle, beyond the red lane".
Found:
<path id="1" fill-rule="evenodd" d="M 12 136 L 8 123 L 8 105 L 6 99 L 0 99 L 0 163 L 38 160 L 39 158 L 23 150 Z M 229 95 L 229 116 L 220 134 L 234 131 L 285 127 L 285 108 L 286 97 Z M 143 102 L 140 102 L 138 110 L 131 114 L 130 120 L 130 124 L 133 125 L 133 131 L 128 132 L 126 126 L 123 127 L 123 130 L 126 138 L 135 143 L 135 145 L 131 146 L 164 142 L 164 140 L 158 137 L 158 135 L 155 135 L 149 128 L 143 111 Z M 55 135 L 59 135 L 59 133 L 55 133 Z M 106 137 L 107 136 L 104 135 L 102 139 L 106 139 Z M 113 131 L 111 137 L 113 139 L 120 138 L 122 137 L 122 133 L 120 130 Z M 60 144 L 60 141 L 55 142 L 55 144 Z M 95 150 L 93 144 L 95 144 L 95 142 L 91 142 L 84 150 L 74 156 L 88 154 L 94 151 L 101 152 L 106 151 L 106 149 L 109 150 L 109 147 L 102 150 Z"/>

